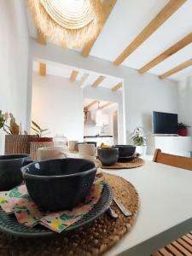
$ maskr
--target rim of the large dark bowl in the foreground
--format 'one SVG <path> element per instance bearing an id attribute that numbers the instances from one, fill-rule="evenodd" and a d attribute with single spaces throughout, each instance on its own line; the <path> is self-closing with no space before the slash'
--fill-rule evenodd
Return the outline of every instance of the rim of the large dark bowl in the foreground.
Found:
<path id="1" fill-rule="evenodd" d="M 27 168 L 32 166 L 32 165 L 35 165 L 35 164 L 38 164 L 39 162 L 42 163 L 42 162 L 48 162 L 48 161 L 55 161 L 55 160 L 84 160 L 85 162 L 87 163 L 90 163 L 93 165 L 93 167 L 87 171 L 84 171 L 84 172 L 76 172 L 76 173 L 73 173 L 73 174 L 67 174 L 67 175 L 49 175 L 49 176 L 46 176 L 46 175 L 35 175 L 35 174 L 31 174 L 31 173 L 27 173 Z M 97 167 L 96 165 L 94 164 L 94 162 L 90 161 L 90 160 L 85 160 L 85 159 L 82 159 L 82 158 L 63 158 L 63 159 L 51 159 L 51 160 L 43 160 L 43 161 L 34 161 L 32 162 L 31 164 L 27 165 L 27 166 L 23 166 L 20 168 L 22 174 L 23 174 L 23 177 L 24 179 L 27 177 L 27 178 L 37 178 L 37 179 L 54 179 L 54 178 L 61 178 L 61 177 L 77 177 L 77 176 L 84 176 L 84 175 L 87 175 L 91 172 L 96 172 L 97 170 Z"/>

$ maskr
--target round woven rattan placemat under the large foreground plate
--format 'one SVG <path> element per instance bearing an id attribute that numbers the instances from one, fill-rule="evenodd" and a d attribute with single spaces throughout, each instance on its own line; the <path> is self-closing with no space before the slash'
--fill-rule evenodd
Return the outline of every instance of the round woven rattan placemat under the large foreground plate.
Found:
<path id="1" fill-rule="evenodd" d="M 122 177 L 103 174 L 113 188 L 113 194 L 131 212 L 125 217 L 119 208 L 112 206 L 119 218 L 111 218 L 108 213 L 96 219 L 92 224 L 74 230 L 67 235 L 47 238 L 15 238 L 0 233 L 1 256 L 91 256 L 101 255 L 131 230 L 137 217 L 139 200 L 137 190 Z"/>

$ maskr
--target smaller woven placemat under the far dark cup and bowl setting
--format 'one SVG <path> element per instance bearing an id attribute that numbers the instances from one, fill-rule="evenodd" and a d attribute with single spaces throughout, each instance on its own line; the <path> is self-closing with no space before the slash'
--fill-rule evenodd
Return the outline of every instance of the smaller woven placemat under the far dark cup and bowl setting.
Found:
<path id="1" fill-rule="evenodd" d="M 131 169 L 137 168 L 139 166 L 143 166 L 145 164 L 145 160 L 142 158 L 135 158 L 127 163 L 119 163 L 117 162 L 113 166 L 102 166 L 102 169 Z"/>

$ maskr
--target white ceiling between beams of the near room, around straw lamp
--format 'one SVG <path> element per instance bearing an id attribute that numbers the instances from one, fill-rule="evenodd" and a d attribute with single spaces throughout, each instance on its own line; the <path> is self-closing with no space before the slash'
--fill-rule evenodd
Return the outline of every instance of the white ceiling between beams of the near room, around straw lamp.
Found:
<path id="1" fill-rule="evenodd" d="M 143 27 L 162 9 L 168 0 L 118 0 L 90 55 L 114 61 L 125 47 L 136 38 Z M 27 20 L 32 37 L 37 37 L 32 17 L 27 10 Z M 126 67 L 139 69 L 165 49 L 177 43 L 192 31 L 192 0 L 188 0 L 160 28 L 138 47 L 124 62 Z M 162 61 L 148 72 L 156 75 L 176 67 L 192 57 L 192 44 Z M 192 75 L 192 67 L 176 73 L 170 79 L 180 80 Z"/>

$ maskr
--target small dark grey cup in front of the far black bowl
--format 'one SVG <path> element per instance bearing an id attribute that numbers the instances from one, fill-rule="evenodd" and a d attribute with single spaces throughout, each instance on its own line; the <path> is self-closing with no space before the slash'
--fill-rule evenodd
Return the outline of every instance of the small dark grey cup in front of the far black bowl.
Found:
<path id="1" fill-rule="evenodd" d="M 98 148 L 98 159 L 102 162 L 103 166 L 113 166 L 119 158 L 118 148 Z"/>

